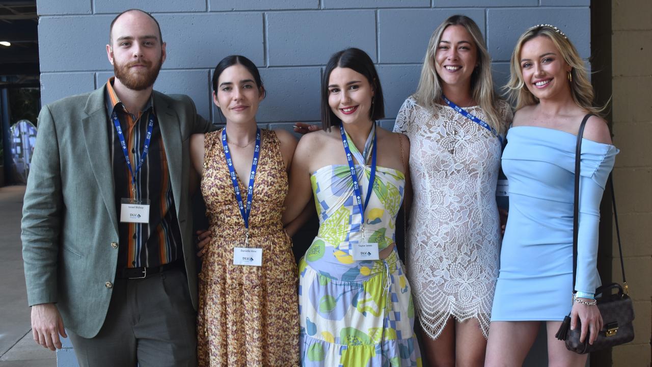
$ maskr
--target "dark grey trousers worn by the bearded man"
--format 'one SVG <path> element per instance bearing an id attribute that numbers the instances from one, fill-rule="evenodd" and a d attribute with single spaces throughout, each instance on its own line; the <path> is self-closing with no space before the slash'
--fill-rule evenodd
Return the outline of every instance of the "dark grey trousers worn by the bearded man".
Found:
<path id="1" fill-rule="evenodd" d="M 100 332 L 68 336 L 81 367 L 196 366 L 196 312 L 185 273 L 115 279 Z"/>

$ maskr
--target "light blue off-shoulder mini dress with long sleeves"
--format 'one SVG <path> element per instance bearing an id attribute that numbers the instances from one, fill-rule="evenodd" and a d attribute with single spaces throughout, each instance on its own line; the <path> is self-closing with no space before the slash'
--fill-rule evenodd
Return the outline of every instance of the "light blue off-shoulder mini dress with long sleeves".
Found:
<path id="1" fill-rule="evenodd" d="M 556 129 L 509 129 L 502 158 L 509 218 L 492 321 L 561 321 L 571 311 L 576 140 Z M 600 285 L 600 200 L 618 152 L 582 139 L 576 291 L 595 293 Z"/>

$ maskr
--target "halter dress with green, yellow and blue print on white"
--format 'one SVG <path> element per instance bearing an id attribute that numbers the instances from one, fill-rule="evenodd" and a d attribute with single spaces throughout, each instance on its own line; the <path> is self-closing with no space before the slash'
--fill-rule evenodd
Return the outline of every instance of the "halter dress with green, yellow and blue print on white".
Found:
<path id="1" fill-rule="evenodd" d="M 371 152 L 374 129 L 364 147 Z M 357 162 L 366 162 L 349 136 Z M 355 170 L 366 197 L 371 168 Z M 319 233 L 299 263 L 299 313 L 303 366 L 421 366 L 413 332 L 414 307 L 396 249 L 386 259 L 353 261 L 349 249 L 362 242 L 348 165 L 319 168 L 311 176 Z M 378 167 L 364 215 L 366 242 L 379 249 L 394 243 L 405 176 Z"/>

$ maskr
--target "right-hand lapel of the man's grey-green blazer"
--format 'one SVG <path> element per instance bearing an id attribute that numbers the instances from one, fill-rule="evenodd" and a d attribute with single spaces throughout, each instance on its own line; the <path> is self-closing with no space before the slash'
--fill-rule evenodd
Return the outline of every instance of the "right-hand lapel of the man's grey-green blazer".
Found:
<path id="1" fill-rule="evenodd" d="M 177 208 L 177 215 L 179 215 L 179 208 L 181 208 L 181 203 L 179 202 L 181 199 L 181 179 L 183 176 L 183 167 L 181 164 L 183 149 L 181 146 L 179 116 L 170 108 L 168 101 L 159 97 L 156 92 L 154 92 L 154 109 L 163 138 L 165 154 L 168 159 L 168 170 L 170 171 L 174 204 Z"/>

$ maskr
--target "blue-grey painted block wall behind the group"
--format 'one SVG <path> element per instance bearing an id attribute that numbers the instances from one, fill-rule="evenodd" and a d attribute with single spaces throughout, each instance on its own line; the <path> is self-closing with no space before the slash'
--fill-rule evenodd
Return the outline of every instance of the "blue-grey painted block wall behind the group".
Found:
<path id="1" fill-rule="evenodd" d="M 589 0 L 37 0 L 42 103 L 106 82 L 113 71 L 104 47 L 109 25 L 131 7 L 152 12 L 168 44 L 155 88 L 190 95 L 214 123 L 220 116 L 210 83 L 222 57 L 242 54 L 258 65 L 268 91 L 258 121 L 290 129 L 295 121 L 318 122 L 323 65 L 356 46 L 378 65 L 387 116 L 381 125 L 391 129 L 417 86 L 432 31 L 452 14 L 480 25 L 497 87 L 509 76 L 516 38 L 531 25 L 557 25 L 590 56 Z M 71 355 L 59 352 L 59 366 L 73 366 Z"/>

